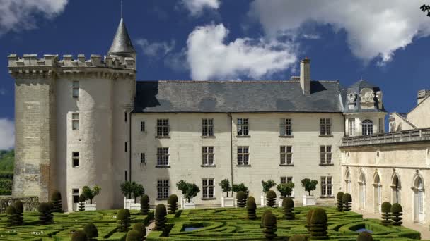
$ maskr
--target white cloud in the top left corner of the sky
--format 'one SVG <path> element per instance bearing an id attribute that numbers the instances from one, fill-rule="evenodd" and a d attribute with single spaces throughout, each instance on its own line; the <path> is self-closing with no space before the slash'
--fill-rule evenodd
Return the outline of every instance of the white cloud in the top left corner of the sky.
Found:
<path id="1" fill-rule="evenodd" d="M 35 27 L 35 15 L 52 18 L 64 11 L 68 0 L 0 0 L 0 34 Z"/>

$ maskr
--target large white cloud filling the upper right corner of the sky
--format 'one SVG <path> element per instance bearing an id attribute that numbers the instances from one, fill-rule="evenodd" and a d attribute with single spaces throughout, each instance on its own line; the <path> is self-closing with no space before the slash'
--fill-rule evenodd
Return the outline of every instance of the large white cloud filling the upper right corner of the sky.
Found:
<path id="1" fill-rule="evenodd" d="M 414 37 L 430 35 L 430 18 L 419 10 L 424 0 L 254 0 L 250 15 L 269 36 L 294 35 L 303 23 L 345 30 L 352 53 L 364 61 L 390 61 Z"/>

